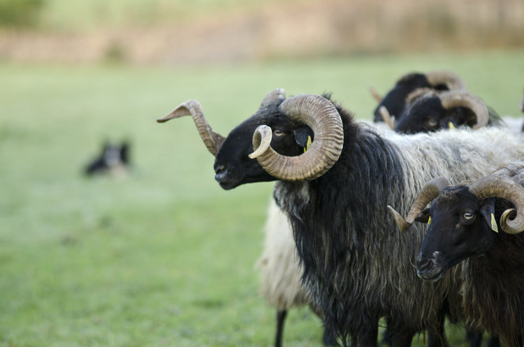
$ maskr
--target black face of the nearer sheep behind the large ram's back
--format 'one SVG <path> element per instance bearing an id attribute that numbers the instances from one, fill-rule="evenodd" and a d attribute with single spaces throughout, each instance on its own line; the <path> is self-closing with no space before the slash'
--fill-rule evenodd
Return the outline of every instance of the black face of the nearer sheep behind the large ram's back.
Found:
<path id="1" fill-rule="evenodd" d="M 438 96 L 424 97 L 414 103 L 398 122 L 399 133 L 428 133 L 456 126 L 474 126 L 476 116 L 469 108 L 446 110 Z"/>

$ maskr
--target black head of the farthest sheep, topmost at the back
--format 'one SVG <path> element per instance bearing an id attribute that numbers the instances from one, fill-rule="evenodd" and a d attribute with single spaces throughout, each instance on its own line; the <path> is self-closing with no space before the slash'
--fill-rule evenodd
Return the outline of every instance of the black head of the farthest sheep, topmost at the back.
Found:
<path id="1" fill-rule="evenodd" d="M 412 91 L 419 88 L 432 88 L 442 91 L 448 90 L 446 84 L 432 86 L 422 73 L 410 73 L 409 75 L 405 75 L 397 82 L 397 84 L 395 84 L 395 87 L 384 96 L 381 103 L 377 105 L 377 108 L 373 112 L 374 121 L 383 121 L 379 112 L 381 106 L 385 106 L 391 116 L 395 116 L 397 120 L 400 119 L 406 108 L 407 96 L 411 94 Z"/>

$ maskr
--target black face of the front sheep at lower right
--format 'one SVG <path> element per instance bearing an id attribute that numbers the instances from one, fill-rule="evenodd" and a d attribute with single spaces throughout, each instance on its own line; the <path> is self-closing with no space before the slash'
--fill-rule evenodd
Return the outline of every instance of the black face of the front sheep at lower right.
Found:
<path id="1" fill-rule="evenodd" d="M 485 254 L 499 227 L 495 198 L 479 200 L 467 186 L 442 189 L 415 220 L 430 224 L 416 258 L 417 274 L 429 282 L 441 279 L 462 260 Z"/>

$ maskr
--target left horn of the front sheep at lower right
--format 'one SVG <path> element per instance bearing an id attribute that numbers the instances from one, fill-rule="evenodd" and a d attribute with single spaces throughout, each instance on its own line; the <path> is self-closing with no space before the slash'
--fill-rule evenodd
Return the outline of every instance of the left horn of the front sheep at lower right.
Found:
<path id="1" fill-rule="evenodd" d="M 409 209 L 409 214 L 407 214 L 407 219 L 404 219 L 398 212 L 395 211 L 395 209 L 393 209 L 393 207 L 388 205 L 388 209 L 391 214 L 393 214 L 393 218 L 395 219 L 398 228 L 400 228 L 402 232 L 406 232 L 415 222 L 416 217 L 421 214 L 424 207 L 428 205 L 431 200 L 437 198 L 440 191 L 446 186 L 451 186 L 451 184 L 444 176 L 434 178 L 425 184 L 419 195 L 416 195 L 412 208 Z"/>

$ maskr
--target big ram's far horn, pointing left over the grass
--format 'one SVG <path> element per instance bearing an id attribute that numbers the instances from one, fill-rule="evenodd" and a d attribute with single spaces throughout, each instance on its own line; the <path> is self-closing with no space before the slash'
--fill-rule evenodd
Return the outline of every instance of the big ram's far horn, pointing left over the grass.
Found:
<path id="1" fill-rule="evenodd" d="M 175 110 L 170 112 L 162 118 L 157 119 L 159 123 L 164 123 L 169 119 L 180 118 L 184 116 L 191 116 L 195 121 L 198 133 L 202 138 L 205 147 L 208 147 L 209 152 L 216 156 L 220 145 L 224 142 L 224 136 L 212 131 L 211 126 L 208 124 L 208 120 L 204 117 L 202 106 L 196 100 L 188 100 L 185 103 L 181 103 Z"/>

